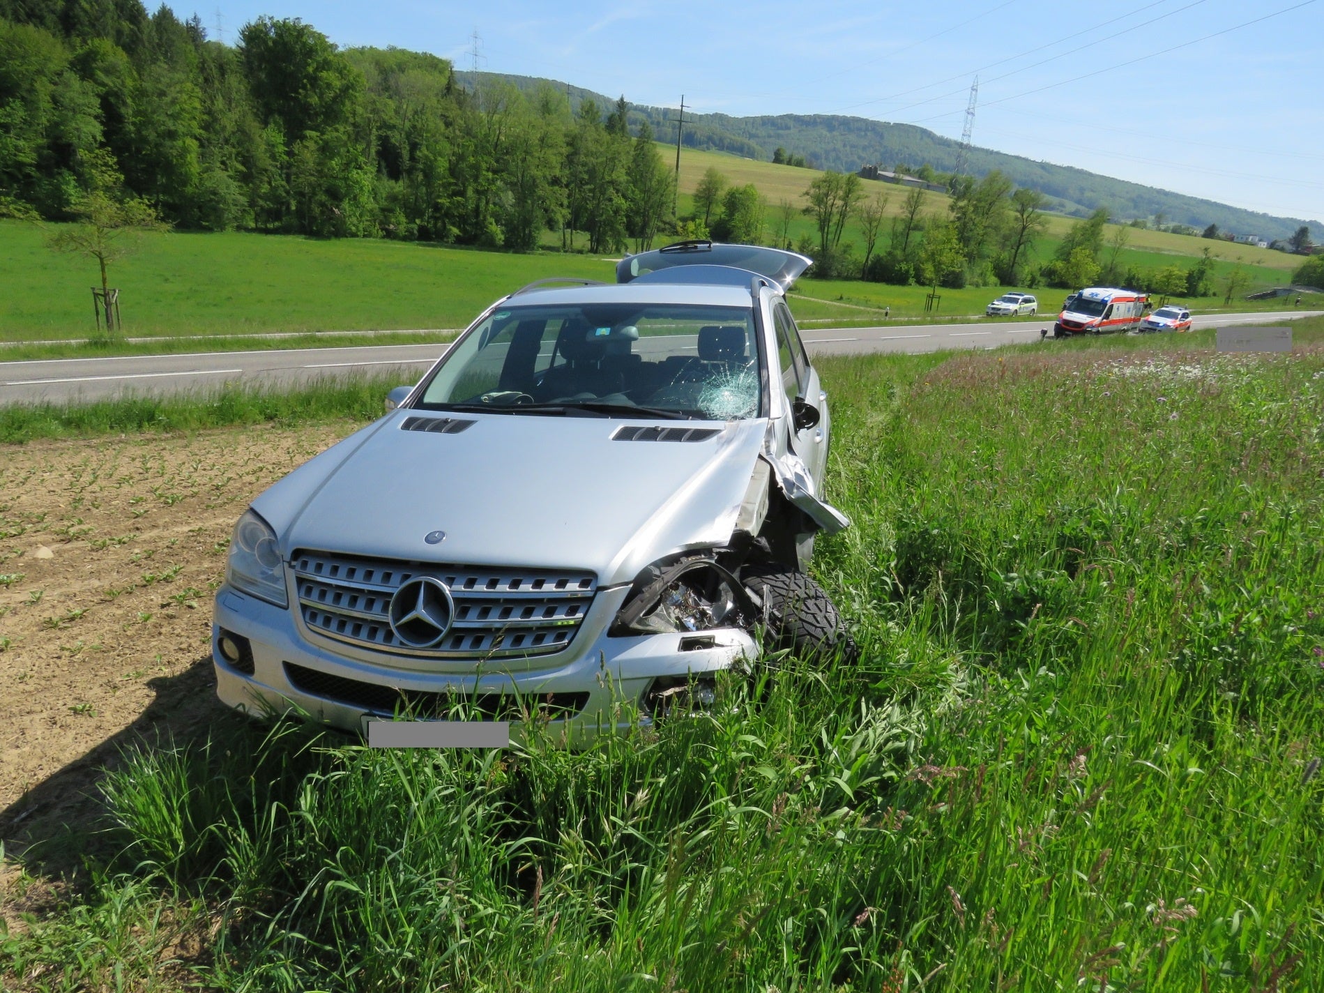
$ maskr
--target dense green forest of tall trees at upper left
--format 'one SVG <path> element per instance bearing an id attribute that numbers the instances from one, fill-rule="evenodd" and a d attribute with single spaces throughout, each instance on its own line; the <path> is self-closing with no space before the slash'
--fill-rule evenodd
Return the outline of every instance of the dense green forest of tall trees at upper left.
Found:
<path id="1" fill-rule="evenodd" d="M 338 49 L 260 17 L 237 44 L 140 0 L 0 0 L 0 213 L 134 203 L 187 229 L 649 248 L 674 177 L 612 106 Z"/>

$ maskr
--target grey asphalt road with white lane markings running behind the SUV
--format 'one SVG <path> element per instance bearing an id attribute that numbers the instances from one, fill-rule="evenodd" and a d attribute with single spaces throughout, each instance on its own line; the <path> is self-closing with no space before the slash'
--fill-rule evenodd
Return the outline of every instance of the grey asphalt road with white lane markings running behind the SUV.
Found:
<path id="1" fill-rule="evenodd" d="M 1196 327 L 1275 324 L 1317 314 L 1320 311 L 1218 314 L 1197 316 L 1194 324 Z M 805 328 L 802 335 L 812 352 L 858 355 L 1038 343 L 1039 330 L 1045 327 L 1053 327 L 1051 316 L 980 324 Z M 1051 348 L 1051 344 L 1045 347 Z M 352 371 L 393 371 L 399 375 L 400 383 L 414 383 L 444 350 L 444 344 L 393 344 L 0 361 L 0 405 L 101 400 L 127 392 L 139 395 L 188 392 L 233 380 L 295 385 Z"/>

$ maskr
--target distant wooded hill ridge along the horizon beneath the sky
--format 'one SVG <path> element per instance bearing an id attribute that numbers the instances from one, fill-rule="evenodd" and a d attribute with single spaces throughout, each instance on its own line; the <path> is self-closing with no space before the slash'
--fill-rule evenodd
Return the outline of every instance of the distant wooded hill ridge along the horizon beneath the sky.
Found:
<path id="1" fill-rule="evenodd" d="M 455 73 L 466 86 L 473 85 L 471 73 Z M 553 86 L 571 97 L 571 106 L 592 99 L 606 109 L 614 97 L 572 86 L 555 79 L 530 75 L 481 73 L 482 79 L 502 79 L 520 90 L 542 85 Z M 675 140 L 675 111 L 662 107 L 630 105 L 630 120 L 636 126 L 647 120 L 659 140 Z M 779 146 L 822 169 L 854 172 L 866 163 L 891 168 L 896 163 L 911 167 L 928 163 L 939 172 L 956 167 L 960 143 L 943 138 L 915 124 L 887 124 L 867 118 L 833 114 L 779 114 L 776 117 L 735 118 L 726 114 L 686 115 L 683 144 L 741 155 L 748 159 L 772 159 Z M 1221 230 L 1237 234 L 1258 234 L 1272 241 L 1286 238 L 1300 225 L 1308 224 L 1316 242 L 1324 242 L 1324 222 L 1298 217 L 1274 217 L 1256 211 L 1246 211 L 1213 200 L 1202 200 L 1185 193 L 1157 189 L 1140 183 L 1129 183 L 1074 166 L 1054 166 L 1019 155 L 972 148 L 969 169 L 982 176 L 1001 169 L 1013 183 L 1038 189 L 1050 197 L 1055 211 L 1068 214 L 1088 214 L 1106 207 L 1116 220 L 1153 217 L 1162 213 L 1169 224 L 1188 224 L 1205 228 L 1217 224 Z"/>

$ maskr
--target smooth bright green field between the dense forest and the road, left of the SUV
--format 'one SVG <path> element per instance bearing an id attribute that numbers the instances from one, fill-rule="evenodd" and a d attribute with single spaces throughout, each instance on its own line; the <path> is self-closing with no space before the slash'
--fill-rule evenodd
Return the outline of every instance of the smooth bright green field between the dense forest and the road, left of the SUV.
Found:
<path id="1" fill-rule="evenodd" d="M 589 256 L 478 252 L 422 242 L 172 233 L 111 267 L 126 335 L 462 328 L 498 297 L 551 275 L 614 279 Z M 97 265 L 0 221 L 0 340 L 93 331 Z"/>

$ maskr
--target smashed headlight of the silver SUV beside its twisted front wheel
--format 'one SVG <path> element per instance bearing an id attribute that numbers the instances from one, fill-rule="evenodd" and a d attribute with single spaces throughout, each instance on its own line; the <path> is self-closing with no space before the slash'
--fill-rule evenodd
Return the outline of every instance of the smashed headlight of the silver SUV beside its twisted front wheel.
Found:
<path id="1" fill-rule="evenodd" d="M 691 556 L 639 573 L 610 634 L 685 634 L 740 626 L 755 616 L 740 580 L 711 557 Z"/>

